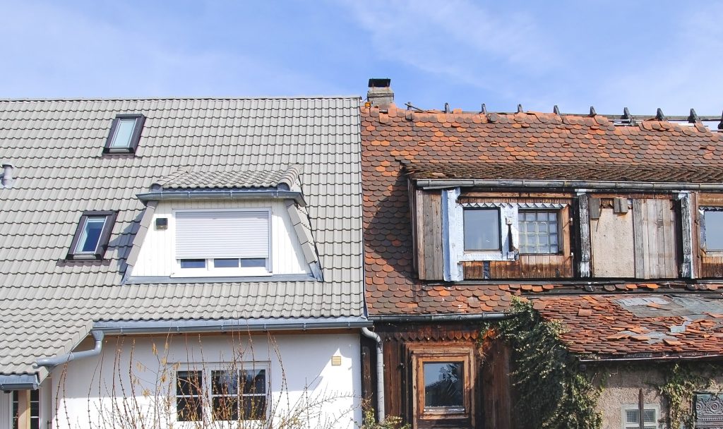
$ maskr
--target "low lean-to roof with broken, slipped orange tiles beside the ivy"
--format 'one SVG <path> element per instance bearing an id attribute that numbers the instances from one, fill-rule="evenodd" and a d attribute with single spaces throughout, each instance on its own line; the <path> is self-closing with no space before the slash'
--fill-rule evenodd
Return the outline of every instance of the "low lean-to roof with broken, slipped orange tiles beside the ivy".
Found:
<path id="1" fill-rule="evenodd" d="M 568 350 L 596 358 L 723 353 L 723 302 L 700 295 L 548 296 L 533 301 L 560 321 Z"/>

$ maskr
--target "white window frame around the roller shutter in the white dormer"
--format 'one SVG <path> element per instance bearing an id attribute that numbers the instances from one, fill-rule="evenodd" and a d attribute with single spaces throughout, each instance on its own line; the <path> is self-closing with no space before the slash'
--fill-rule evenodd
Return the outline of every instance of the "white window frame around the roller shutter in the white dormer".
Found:
<path id="1" fill-rule="evenodd" d="M 174 209 L 173 214 L 174 231 L 173 231 L 173 259 L 174 272 L 171 277 L 265 277 L 273 274 L 273 209 L 270 207 L 249 207 L 242 209 Z M 202 268 L 182 268 L 181 259 L 176 256 L 176 214 L 192 213 L 192 212 L 266 212 L 268 219 L 268 258 L 266 258 L 265 267 L 233 267 L 233 268 L 216 268 L 213 265 L 214 258 L 205 258 L 205 267 Z M 195 259 L 195 258 L 194 258 Z M 199 258 L 201 259 L 201 258 Z"/>

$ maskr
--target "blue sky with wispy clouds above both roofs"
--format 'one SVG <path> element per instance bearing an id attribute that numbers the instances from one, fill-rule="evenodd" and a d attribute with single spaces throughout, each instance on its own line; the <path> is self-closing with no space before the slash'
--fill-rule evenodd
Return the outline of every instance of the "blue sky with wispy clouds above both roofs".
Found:
<path id="1" fill-rule="evenodd" d="M 696 6 L 696 7 L 693 7 Z M 718 115 L 723 1 L 0 0 L 0 97 L 362 95 Z"/>

